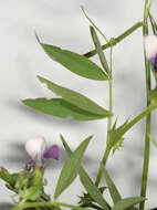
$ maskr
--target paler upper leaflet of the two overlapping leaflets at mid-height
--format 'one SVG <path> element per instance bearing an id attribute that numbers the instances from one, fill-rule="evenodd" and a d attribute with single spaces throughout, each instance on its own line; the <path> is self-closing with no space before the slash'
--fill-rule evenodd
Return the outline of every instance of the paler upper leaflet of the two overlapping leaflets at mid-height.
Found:
<path id="1" fill-rule="evenodd" d="M 111 112 L 98 106 L 96 103 L 85 97 L 84 95 L 76 93 L 72 90 L 59 86 L 51 81 L 48 81 L 41 76 L 38 76 L 40 82 L 45 83 L 48 88 L 54 92 L 57 95 L 61 95 L 63 99 L 71 103 L 72 105 L 77 106 L 78 108 L 90 112 L 94 115 L 102 115 L 104 117 L 111 116 Z"/>

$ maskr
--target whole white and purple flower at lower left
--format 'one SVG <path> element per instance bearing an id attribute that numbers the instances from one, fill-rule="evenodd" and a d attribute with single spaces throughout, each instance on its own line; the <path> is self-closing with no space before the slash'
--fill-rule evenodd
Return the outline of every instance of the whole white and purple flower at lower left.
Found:
<path id="1" fill-rule="evenodd" d="M 35 160 L 38 160 L 41 166 L 43 166 L 46 159 L 59 159 L 60 156 L 59 146 L 52 145 L 51 147 L 46 148 L 45 139 L 42 136 L 27 140 L 25 150 L 31 156 L 31 160 L 28 164 L 30 168 L 34 166 Z"/>

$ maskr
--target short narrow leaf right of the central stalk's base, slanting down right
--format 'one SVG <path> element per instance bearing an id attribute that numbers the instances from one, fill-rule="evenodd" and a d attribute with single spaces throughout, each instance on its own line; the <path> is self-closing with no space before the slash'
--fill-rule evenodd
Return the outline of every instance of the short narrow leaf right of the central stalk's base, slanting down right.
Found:
<path id="1" fill-rule="evenodd" d="M 122 199 L 122 197 L 105 168 L 103 169 L 103 172 L 104 172 L 104 177 L 105 177 L 111 197 L 113 199 L 113 202 L 116 203 Z"/>

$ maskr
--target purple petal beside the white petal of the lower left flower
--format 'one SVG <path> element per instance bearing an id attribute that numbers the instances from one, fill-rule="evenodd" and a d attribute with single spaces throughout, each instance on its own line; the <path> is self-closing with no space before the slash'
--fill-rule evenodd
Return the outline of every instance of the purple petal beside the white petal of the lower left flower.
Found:
<path id="1" fill-rule="evenodd" d="M 53 158 L 59 159 L 60 156 L 60 148 L 57 145 L 51 146 L 45 153 L 43 154 L 43 158 Z"/>

